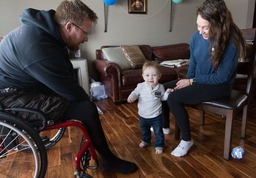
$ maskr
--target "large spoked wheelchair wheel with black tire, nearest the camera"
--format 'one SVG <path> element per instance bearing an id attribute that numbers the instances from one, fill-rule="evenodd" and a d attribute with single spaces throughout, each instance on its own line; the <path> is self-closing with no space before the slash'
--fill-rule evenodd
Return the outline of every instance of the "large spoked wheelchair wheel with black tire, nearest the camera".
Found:
<path id="1" fill-rule="evenodd" d="M 46 169 L 47 153 L 38 133 L 0 112 L 0 178 L 44 178 Z"/>

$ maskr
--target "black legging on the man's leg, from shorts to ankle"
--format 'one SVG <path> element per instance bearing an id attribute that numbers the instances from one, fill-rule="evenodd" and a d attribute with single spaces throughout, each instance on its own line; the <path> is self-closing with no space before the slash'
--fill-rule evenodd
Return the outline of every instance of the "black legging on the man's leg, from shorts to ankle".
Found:
<path id="1" fill-rule="evenodd" d="M 79 120 L 85 125 L 91 137 L 93 147 L 97 150 L 103 160 L 110 159 L 113 156 L 107 145 L 98 117 L 97 107 L 92 101 L 70 102 L 61 120 L 67 121 L 71 119 Z"/>

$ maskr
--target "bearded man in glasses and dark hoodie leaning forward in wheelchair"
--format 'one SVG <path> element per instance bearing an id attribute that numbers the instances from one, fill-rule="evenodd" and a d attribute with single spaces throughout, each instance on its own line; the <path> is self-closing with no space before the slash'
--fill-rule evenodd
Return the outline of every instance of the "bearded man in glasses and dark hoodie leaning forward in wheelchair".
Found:
<path id="1" fill-rule="evenodd" d="M 0 103 L 4 108 L 40 110 L 63 122 L 81 121 L 102 158 L 103 169 L 129 174 L 137 171 L 137 166 L 109 149 L 97 107 L 76 80 L 69 60 L 68 49 L 76 51 L 87 42 L 97 20 L 80 0 L 64 0 L 56 11 L 29 8 L 22 12 L 22 25 L 0 42 Z M 23 112 L 17 116 L 38 117 Z"/>

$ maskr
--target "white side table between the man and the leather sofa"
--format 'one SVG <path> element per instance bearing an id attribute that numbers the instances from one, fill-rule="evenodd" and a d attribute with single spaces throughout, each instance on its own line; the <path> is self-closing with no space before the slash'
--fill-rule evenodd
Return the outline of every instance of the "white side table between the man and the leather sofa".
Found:
<path id="1" fill-rule="evenodd" d="M 88 77 L 88 68 L 87 61 L 84 58 L 79 59 L 70 59 L 74 72 L 77 75 L 79 85 L 82 86 L 85 92 L 89 95 L 89 77 Z"/>

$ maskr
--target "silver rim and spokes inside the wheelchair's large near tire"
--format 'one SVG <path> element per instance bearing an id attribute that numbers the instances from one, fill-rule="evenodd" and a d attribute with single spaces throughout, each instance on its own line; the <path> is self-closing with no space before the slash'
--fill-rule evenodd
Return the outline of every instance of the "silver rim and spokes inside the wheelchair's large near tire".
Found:
<path id="1" fill-rule="evenodd" d="M 39 177 L 40 156 L 27 134 L 12 124 L 0 121 L 0 140 L 0 178 Z M 20 149 L 24 144 L 26 147 Z M 22 151 L 26 149 L 31 149 L 31 152 Z"/>

